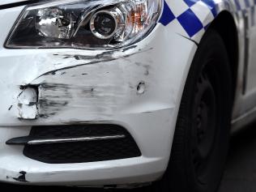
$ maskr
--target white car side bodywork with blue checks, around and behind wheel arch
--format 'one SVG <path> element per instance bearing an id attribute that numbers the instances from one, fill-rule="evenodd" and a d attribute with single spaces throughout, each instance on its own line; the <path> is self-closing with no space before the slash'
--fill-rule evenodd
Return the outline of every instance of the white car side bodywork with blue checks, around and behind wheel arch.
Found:
<path id="1" fill-rule="evenodd" d="M 172 31 L 196 43 L 201 41 L 207 28 L 211 28 L 211 23 L 220 13 L 228 12 L 233 15 L 233 22 L 237 26 L 239 54 L 233 106 L 233 130 L 240 129 L 253 121 L 256 105 L 255 2 L 251 0 L 184 0 L 166 1 L 164 5 L 164 19 L 162 18 L 160 22 L 172 26 Z M 227 30 L 225 27 L 223 26 L 223 30 Z"/>

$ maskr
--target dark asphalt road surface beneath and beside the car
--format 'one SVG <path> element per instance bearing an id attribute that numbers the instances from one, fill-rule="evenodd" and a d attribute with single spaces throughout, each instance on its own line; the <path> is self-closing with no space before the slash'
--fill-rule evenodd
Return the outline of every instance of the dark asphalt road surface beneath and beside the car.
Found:
<path id="1" fill-rule="evenodd" d="M 106 192 L 106 190 L 86 190 L 69 187 L 45 186 L 11 186 L 1 185 L 1 191 L 45 192 L 45 190 L 62 190 L 62 192 Z M 117 190 L 126 192 L 127 190 Z M 130 192 L 143 192 L 128 190 Z M 256 123 L 246 127 L 231 139 L 228 162 L 219 192 L 256 192 Z"/>

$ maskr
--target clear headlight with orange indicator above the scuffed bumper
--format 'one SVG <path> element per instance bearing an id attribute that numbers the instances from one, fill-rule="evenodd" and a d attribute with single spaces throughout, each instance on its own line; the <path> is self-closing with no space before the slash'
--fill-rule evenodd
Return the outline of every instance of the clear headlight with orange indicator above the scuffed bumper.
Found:
<path id="1" fill-rule="evenodd" d="M 140 41 L 162 0 L 58 0 L 24 9 L 7 48 L 113 49 Z"/>

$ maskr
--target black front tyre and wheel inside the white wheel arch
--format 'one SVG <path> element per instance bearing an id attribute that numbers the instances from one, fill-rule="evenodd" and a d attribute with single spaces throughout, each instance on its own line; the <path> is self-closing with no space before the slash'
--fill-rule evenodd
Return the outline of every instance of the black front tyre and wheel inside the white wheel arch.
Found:
<path id="1" fill-rule="evenodd" d="M 221 36 L 208 30 L 186 80 L 169 167 L 154 191 L 215 192 L 228 153 L 232 78 Z"/>

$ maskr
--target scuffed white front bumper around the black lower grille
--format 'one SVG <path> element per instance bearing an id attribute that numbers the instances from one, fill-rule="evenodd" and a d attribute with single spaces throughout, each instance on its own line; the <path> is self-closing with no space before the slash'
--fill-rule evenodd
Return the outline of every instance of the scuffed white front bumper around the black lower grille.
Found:
<path id="1" fill-rule="evenodd" d="M 2 45 L 22 9 L 0 11 Z M 138 44 L 109 51 L 0 48 L 0 181 L 105 186 L 160 178 L 196 49 L 171 28 L 158 24 Z M 45 164 L 23 156 L 23 146 L 6 145 L 32 126 L 88 123 L 125 127 L 142 156 Z"/>

